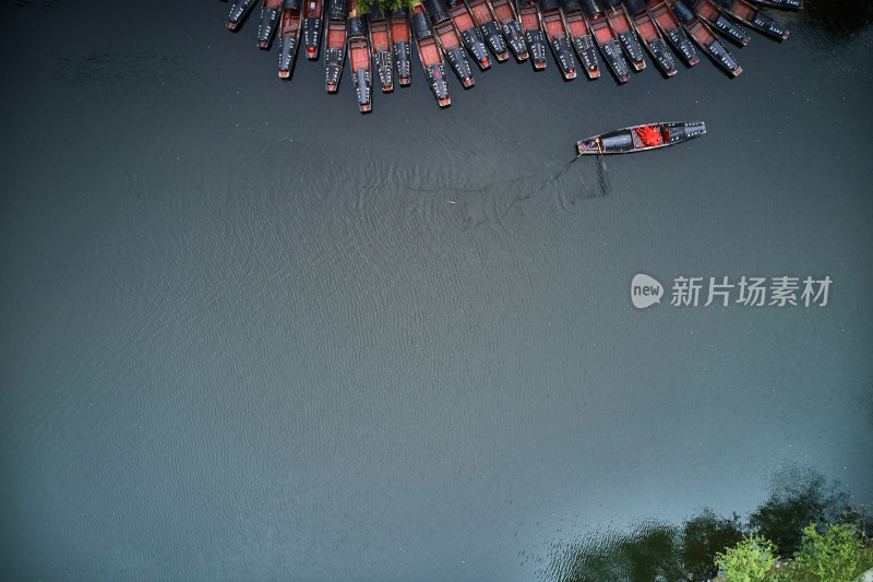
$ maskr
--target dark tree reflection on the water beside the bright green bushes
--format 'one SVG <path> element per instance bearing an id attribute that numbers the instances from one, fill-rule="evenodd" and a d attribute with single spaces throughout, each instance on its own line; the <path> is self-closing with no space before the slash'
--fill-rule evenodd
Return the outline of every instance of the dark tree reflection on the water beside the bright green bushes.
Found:
<path id="1" fill-rule="evenodd" d="M 579 542 L 555 544 L 543 579 L 561 582 L 705 581 L 718 573 L 715 556 L 756 531 L 774 542 L 782 557 L 799 548 L 801 530 L 811 522 L 851 523 L 865 535 L 871 520 L 863 507 L 851 508 L 837 482 L 797 466 L 777 472 L 772 494 L 744 523 L 734 513 L 704 508 L 672 525 L 645 520 L 630 532 L 598 531 Z"/>

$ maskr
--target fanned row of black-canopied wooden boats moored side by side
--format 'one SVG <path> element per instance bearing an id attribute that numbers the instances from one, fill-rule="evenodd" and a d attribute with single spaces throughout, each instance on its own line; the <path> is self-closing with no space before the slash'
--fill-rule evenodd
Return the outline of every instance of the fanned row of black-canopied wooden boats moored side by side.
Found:
<path id="1" fill-rule="evenodd" d="M 228 28 L 236 29 L 258 0 L 236 0 Z M 268 49 L 278 35 L 279 76 L 294 70 L 298 47 L 316 60 L 324 48 L 328 93 L 339 85 L 346 60 L 361 111 L 372 108 L 373 72 L 383 92 L 411 80 L 412 39 L 424 76 L 440 106 L 452 99 L 446 62 L 464 87 L 475 83 L 470 60 L 486 70 L 491 55 L 546 68 L 547 46 L 566 80 L 577 62 L 589 79 L 600 76 L 599 52 L 619 83 L 646 67 L 647 51 L 667 76 L 677 72 L 674 54 L 687 67 L 703 50 L 728 74 L 742 69 L 713 29 L 739 46 L 749 43 L 744 26 L 778 40 L 788 32 L 758 4 L 801 9 L 802 0 L 416 0 L 411 8 L 384 12 L 378 0 L 261 0 L 258 46 Z M 517 2 L 517 3 L 516 3 Z M 602 2 L 602 3 L 601 3 Z M 363 11 L 367 14 L 362 13 Z M 672 46 L 670 50 L 668 44 Z M 577 61 L 578 59 L 578 61 Z"/>

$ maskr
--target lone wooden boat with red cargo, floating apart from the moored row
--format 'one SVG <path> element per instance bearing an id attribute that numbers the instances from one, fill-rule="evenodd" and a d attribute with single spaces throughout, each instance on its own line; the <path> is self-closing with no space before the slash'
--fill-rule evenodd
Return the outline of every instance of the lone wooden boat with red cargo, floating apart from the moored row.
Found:
<path id="1" fill-rule="evenodd" d="M 629 154 L 667 147 L 703 135 L 703 121 L 670 121 L 622 128 L 576 142 L 578 155 Z"/>

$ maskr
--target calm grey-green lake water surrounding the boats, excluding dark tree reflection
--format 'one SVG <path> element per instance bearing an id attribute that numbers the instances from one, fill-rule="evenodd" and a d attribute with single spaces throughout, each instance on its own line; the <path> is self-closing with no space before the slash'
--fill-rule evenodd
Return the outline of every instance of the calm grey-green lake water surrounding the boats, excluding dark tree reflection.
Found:
<path id="1" fill-rule="evenodd" d="M 362 116 L 225 2 L 158 4 L 0 2 L 2 578 L 527 581 L 784 466 L 873 502 L 863 10 L 773 11 L 736 80 L 506 62 L 446 110 L 416 57 Z M 555 178 L 698 119 L 610 195 Z M 833 284 L 670 305 L 744 275 Z"/>

